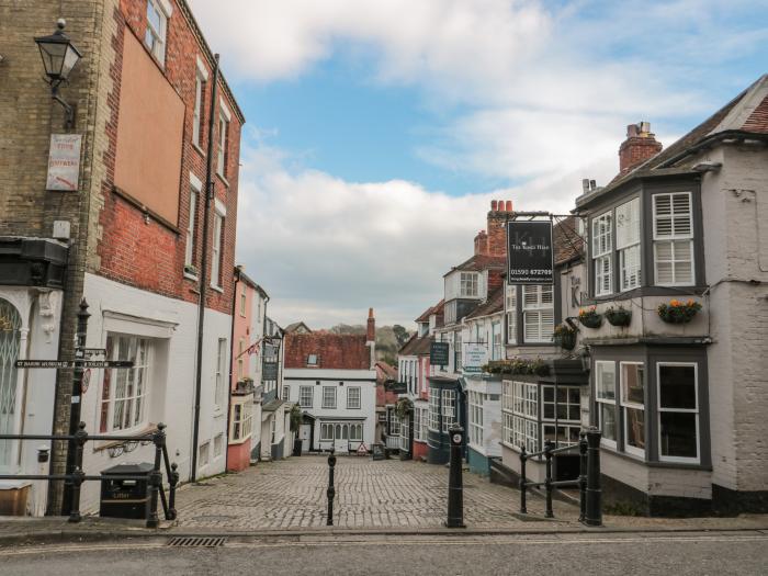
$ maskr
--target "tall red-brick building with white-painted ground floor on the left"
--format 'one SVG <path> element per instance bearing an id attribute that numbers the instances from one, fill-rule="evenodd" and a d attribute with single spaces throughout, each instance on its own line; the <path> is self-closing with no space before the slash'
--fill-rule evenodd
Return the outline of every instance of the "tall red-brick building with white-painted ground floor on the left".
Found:
<path id="1" fill-rule="evenodd" d="M 49 34 L 59 18 L 83 54 L 60 90 L 75 105 L 70 129 L 41 79 L 32 39 Z M 81 398 L 71 398 L 71 371 L 30 370 L 26 380 L 14 374 L 14 383 L 3 381 L 2 394 L 25 397 L 27 410 L 13 413 L 5 426 L 66 433 L 70 406 L 80 400 L 89 431 L 131 434 L 168 425 L 182 481 L 222 472 L 245 118 L 222 76 L 214 87 L 214 54 L 183 0 L 4 3 L 0 34 L 0 266 L 14 271 L 1 274 L 0 307 L 18 320 L 11 330 L 19 335 L 15 357 L 72 359 L 84 296 L 87 346 L 134 361 L 133 369 L 93 370 Z M 46 190 L 52 133 L 82 136 L 71 192 Z M 63 223 L 56 231 L 54 223 Z M 197 366 L 201 293 L 205 330 Z M 53 472 L 64 471 L 65 449 L 54 447 Z M 36 467 L 32 447 L 12 450 L 7 468 Z M 146 461 L 148 450 L 89 443 L 84 468 L 97 473 L 125 459 Z M 60 488 L 52 486 L 52 513 L 60 510 Z M 86 485 L 83 509 L 95 506 L 98 489 Z"/>

